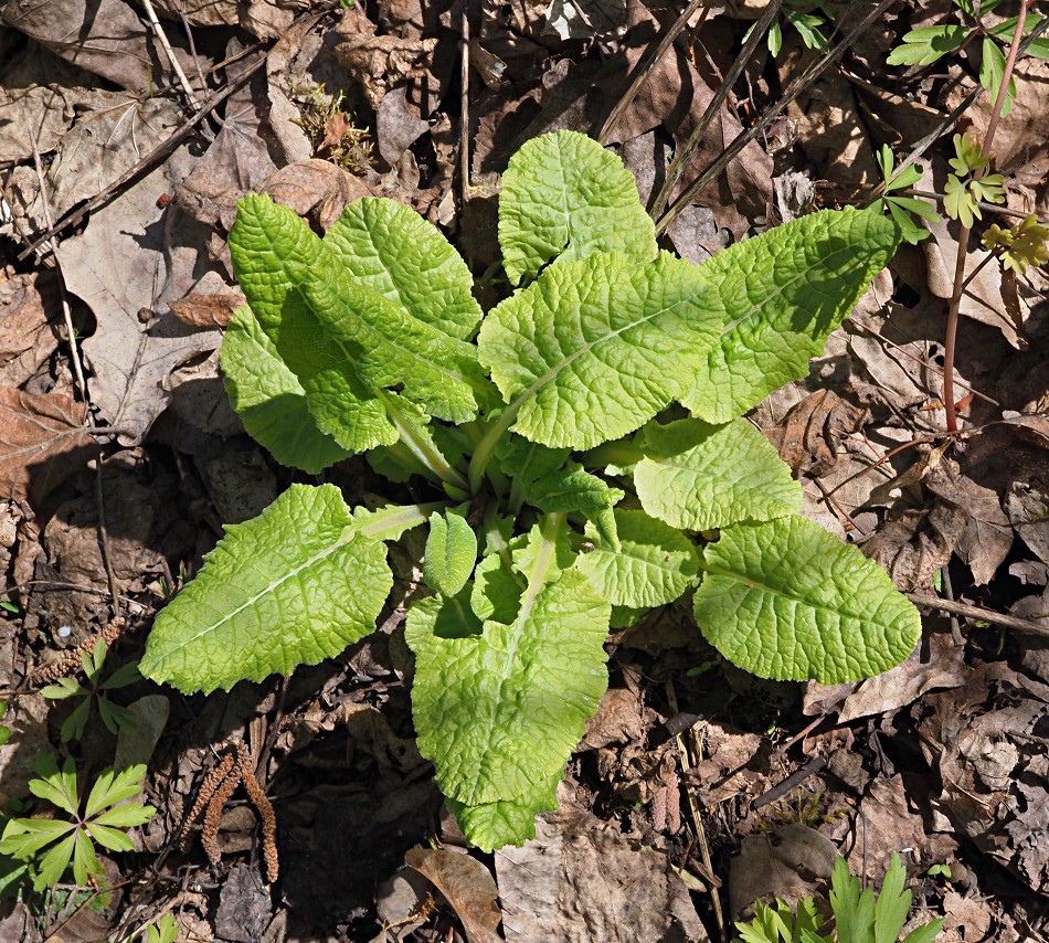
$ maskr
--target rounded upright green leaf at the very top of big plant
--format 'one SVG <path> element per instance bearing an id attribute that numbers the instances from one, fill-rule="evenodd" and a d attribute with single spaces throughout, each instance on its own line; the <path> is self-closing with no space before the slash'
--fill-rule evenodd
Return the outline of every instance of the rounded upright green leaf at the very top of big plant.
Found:
<path id="1" fill-rule="evenodd" d="M 510 158 L 499 192 L 499 244 L 510 282 L 548 262 L 595 252 L 656 257 L 656 236 L 631 172 L 597 141 L 557 131 Z"/>

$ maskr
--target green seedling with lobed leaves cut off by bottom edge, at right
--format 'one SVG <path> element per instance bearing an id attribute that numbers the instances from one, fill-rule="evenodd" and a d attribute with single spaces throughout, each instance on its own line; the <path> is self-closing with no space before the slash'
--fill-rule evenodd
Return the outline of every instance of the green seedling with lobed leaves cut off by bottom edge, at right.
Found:
<path id="1" fill-rule="evenodd" d="M 932 873 L 930 871 L 930 873 Z M 858 878 L 849 873 L 844 858 L 838 858 L 831 875 L 830 909 L 834 912 L 833 932 L 820 935 L 823 918 L 816 912 L 812 898 L 798 901 L 795 912 L 791 905 L 776 900 L 773 907 L 760 901 L 754 919 L 737 923 L 742 943 L 897 943 L 911 907 L 911 892 L 903 890 L 907 869 L 900 856 L 892 852 L 892 862 L 886 875 L 881 893 L 877 897 L 867 888 L 860 890 Z M 932 920 L 912 930 L 902 943 L 932 943 L 943 926 L 943 920 Z"/>

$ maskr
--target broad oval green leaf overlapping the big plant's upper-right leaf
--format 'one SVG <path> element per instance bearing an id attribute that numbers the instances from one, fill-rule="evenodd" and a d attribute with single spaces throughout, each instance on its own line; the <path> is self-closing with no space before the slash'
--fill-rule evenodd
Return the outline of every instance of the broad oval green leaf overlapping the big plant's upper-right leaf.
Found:
<path id="1" fill-rule="evenodd" d="M 682 396 L 721 316 L 703 268 L 613 253 L 552 265 L 492 309 L 480 360 L 532 442 L 593 448 Z"/>

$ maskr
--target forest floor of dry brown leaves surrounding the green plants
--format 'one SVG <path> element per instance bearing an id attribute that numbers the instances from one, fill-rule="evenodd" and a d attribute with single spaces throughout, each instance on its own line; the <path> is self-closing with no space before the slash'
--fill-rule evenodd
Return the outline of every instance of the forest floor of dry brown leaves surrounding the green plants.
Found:
<path id="1" fill-rule="evenodd" d="M 307 480 L 244 433 L 222 384 L 223 328 L 243 304 L 226 246 L 241 195 L 268 192 L 318 229 L 360 195 L 392 197 L 448 236 L 488 308 L 510 155 L 550 130 L 600 137 L 653 208 L 765 6 L 699 10 L 653 60 L 679 8 L 0 2 L 0 799 L 8 815 L 33 808 L 50 746 L 83 792 L 115 756 L 146 762 L 157 809 L 134 851 L 103 854 L 100 887 L 65 875 L 35 892 L 6 861 L 2 943 L 145 939 L 165 914 L 187 943 L 721 940 L 756 899 L 825 898 L 837 855 L 877 887 L 893 852 L 912 922 L 945 918 L 941 940 L 1049 939 L 1049 279 L 992 259 L 967 284 L 964 434 L 944 436 L 960 232 L 945 218 L 902 246 L 808 379 L 750 414 L 808 517 L 900 590 L 958 604 L 922 607 L 923 642 L 899 668 L 835 687 L 765 681 L 723 661 L 687 605 L 658 611 L 610 638 L 611 687 L 560 812 L 523 849 L 469 857 L 415 746 L 403 613 L 288 679 L 105 692 L 134 733 L 110 732 L 96 704 L 68 735 L 77 700 L 41 693 L 68 668 L 49 666 L 71 653 L 75 665 L 104 634 L 104 677 L 136 663 L 223 526 Z M 671 199 L 825 67 L 686 200 L 666 248 L 701 263 L 862 203 L 882 145 L 899 163 L 926 138 L 914 190 L 943 216 L 952 135 L 979 141 L 990 119 L 994 96 L 971 96 L 987 53 L 977 34 L 934 64 L 888 65 L 909 30 L 972 21 L 946 0 L 883 6 L 858 36 L 873 4 L 810 4 L 803 21 L 786 8 L 782 47 L 748 55 Z M 844 55 L 808 47 L 798 23 Z M 1016 86 L 990 155 L 1007 202 L 977 235 L 1049 220 L 1047 63 L 1021 59 Z M 973 236 L 967 271 L 985 255 Z M 381 487 L 362 459 L 322 478 Z M 272 883 L 243 788 L 213 815 L 220 863 L 183 827 L 239 743 L 276 812 Z"/>

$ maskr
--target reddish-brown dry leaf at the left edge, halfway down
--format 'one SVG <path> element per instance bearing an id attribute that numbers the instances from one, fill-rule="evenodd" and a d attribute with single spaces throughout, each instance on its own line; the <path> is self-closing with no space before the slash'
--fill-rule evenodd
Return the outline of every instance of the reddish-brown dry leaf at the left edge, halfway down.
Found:
<path id="1" fill-rule="evenodd" d="M 95 441 L 87 407 L 63 393 L 34 396 L 0 388 L 0 487 L 4 497 L 40 501 L 84 467 Z"/>

